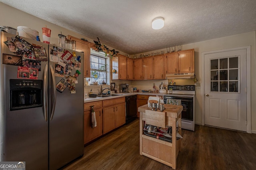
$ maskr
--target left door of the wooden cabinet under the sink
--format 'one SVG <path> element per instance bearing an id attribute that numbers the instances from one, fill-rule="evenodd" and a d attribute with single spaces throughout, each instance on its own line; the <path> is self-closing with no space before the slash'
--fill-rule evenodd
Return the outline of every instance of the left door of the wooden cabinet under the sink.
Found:
<path id="1" fill-rule="evenodd" d="M 116 128 L 115 125 L 115 113 L 116 113 L 116 107 L 106 107 L 103 108 L 103 134 L 113 130 Z"/>

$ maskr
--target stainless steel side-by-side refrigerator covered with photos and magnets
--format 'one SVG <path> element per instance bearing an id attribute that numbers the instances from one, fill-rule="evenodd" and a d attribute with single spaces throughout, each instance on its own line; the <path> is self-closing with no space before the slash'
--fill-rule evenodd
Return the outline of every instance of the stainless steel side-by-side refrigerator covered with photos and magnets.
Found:
<path id="1" fill-rule="evenodd" d="M 11 52 L 9 47 L 14 45 L 8 45 L 8 39 L 15 37 L 0 34 L 0 160 L 24 161 L 26 170 L 56 170 L 84 153 L 84 54 L 76 51 L 76 57 L 70 58 L 80 59 L 81 64 L 78 71 L 72 69 L 68 73 L 80 72 L 74 93 L 70 87 L 57 88 L 66 76 L 56 77 L 58 62 L 50 61 L 50 57 L 57 56 L 51 54 L 53 45 L 21 38 L 31 45 L 41 45 L 47 55 L 47 61 L 40 61 L 36 78 L 22 75 L 24 70 L 19 72 L 18 68 L 25 55 Z"/>

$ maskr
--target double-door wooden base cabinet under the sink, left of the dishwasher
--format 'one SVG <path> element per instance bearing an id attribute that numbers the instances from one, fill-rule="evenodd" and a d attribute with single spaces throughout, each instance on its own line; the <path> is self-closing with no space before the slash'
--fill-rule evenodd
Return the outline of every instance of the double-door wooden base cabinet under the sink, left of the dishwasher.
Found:
<path id="1" fill-rule="evenodd" d="M 104 100 L 102 103 L 103 134 L 105 134 L 125 124 L 125 97 Z"/>

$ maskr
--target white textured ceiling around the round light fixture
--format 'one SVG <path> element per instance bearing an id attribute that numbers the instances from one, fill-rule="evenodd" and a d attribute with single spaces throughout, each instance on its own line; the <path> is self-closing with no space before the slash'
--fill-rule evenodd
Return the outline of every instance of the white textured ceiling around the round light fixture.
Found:
<path id="1" fill-rule="evenodd" d="M 128 54 L 256 30 L 256 0 L 0 0 Z M 163 17 L 164 28 L 151 22 Z M 76 24 L 74 24 L 76 23 Z"/>

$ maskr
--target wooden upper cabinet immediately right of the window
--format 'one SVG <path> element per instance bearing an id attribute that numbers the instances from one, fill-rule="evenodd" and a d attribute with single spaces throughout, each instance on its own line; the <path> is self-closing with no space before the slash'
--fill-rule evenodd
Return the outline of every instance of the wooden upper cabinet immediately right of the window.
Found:
<path id="1" fill-rule="evenodd" d="M 112 80 L 126 80 L 127 79 L 127 61 L 123 55 L 112 57 Z M 113 70 L 116 70 L 114 72 Z"/>

